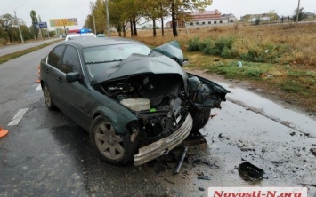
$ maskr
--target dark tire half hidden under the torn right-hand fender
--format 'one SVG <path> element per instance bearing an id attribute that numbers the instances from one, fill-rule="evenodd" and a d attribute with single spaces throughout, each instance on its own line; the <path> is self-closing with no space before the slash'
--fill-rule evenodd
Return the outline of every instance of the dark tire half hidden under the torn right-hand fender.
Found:
<path id="1" fill-rule="evenodd" d="M 199 130 L 207 125 L 211 109 L 198 109 L 195 108 L 191 113 L 193 118 L 192 130 Z"/>

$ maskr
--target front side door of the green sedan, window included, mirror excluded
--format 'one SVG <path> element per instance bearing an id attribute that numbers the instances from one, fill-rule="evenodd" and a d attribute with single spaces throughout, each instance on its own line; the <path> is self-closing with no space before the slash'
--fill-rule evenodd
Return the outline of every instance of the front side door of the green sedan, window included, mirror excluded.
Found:
<path id="1" fill-rule="evenodd" d="M 61 76 L 61 93 L 64 100 L 64 110 L 67 111 L 70 118 L 77 122 L 80 126 L 88 130 L 90 127 L 90 106 L 92 102 L 90 90 L 85 83 L 85 75 L 81 67 L 77 48 L 73 45 L 68 45 L 62 59 L 61 71 L 64 75 Z M 76 82 L 68 83 L 66 75 L 69 73 L 79 73 L 81 79 Z"/>

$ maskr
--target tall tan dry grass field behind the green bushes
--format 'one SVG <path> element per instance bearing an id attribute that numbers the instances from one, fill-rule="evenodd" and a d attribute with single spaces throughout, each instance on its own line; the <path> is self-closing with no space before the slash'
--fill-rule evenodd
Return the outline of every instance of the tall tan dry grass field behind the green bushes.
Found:
<path id="1" fill-rule="evenodd" d="M 262 50 L 259 47 L 281 44 L 288 47 L 288 52 L 280 57 L 278 63 L 316 66 L 316 56 L 314 55 L 314 51 L 316 51 L 315 32 L 316 25 L 314 23 L 265 26 L 239 25 L 237 30 L 234 26 L 188 28 L 189 35 L 186 34 L 185 29 L 179 29 L 179 36 L 176 38 L 173 37 L 171 29 L 166 30 L 165 36 L 161 36 L 161 30 L 158 29 L 158 36 L 155 38 L 152 36 L 152 31 L 139 31 L 139 36 L 136 39 L 151 46 L 158 46 L 176 39 L 185 49 L 188 40 L 195 36 L 199 36 L 200 40 L 230 36 L 234 38 L 232 48 L 239 54 L 249 49 Z"/>

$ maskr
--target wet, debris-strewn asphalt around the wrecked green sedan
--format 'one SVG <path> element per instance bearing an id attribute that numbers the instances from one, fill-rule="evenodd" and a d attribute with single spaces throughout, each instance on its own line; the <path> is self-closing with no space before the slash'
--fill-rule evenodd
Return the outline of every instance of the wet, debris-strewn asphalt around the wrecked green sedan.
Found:
<path id="1" fill-rule="evenodd" d="M 27 114 L 0 138 L 0 196 L 207 196 L 210 186 L 315 185 L 315 122 L 278 105 L 281 114 L 273 114 L 277 106 L 264 98 L 228 89 L 230 101 L 182 144 L 189 149 L 177 175 L 182 146 L 142 167 L 108 165 L 85 130 L 47 110 L 41 92 L 27 91 Z M 244 180 L 238 167 L 245 161 L 263 169 L 264 178 Z M 316 196 L 316 187 L 307 187 Z"/>

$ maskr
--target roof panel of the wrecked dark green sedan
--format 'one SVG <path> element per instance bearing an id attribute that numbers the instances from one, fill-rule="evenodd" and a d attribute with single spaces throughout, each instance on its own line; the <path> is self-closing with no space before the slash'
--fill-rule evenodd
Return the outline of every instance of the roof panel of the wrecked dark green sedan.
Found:
<path id="1" fill-rule="evenodd" d="M 117 44 L 126 44 L 126 43 L 141 43 L 139 41 L 126 39 L 126 38 L 91 38 L 91 39 L 82 39 L 82 40 L 73 40 L 73 41 L 67 41 L 64 43 L 71 43 L 77 48 L 87 48 L 92 46 L 104 46 L 104 45 L 117 45 Z M 143 44 L 143 43 L 142 43 Z"/>

